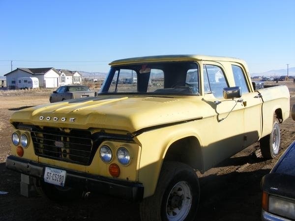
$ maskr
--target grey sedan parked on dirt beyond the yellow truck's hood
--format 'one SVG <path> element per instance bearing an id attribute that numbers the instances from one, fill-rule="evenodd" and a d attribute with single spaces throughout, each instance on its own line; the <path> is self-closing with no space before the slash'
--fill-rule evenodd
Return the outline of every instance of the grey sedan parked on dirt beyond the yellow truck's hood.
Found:
<path id="1" fill-rule="evenodd" d="M 59 102 L 67 99 L 95 97 L 97 93 L 91 91 L 86 85 L 64 85 L 53 91 L 50 95 L 50 103 Z"/>

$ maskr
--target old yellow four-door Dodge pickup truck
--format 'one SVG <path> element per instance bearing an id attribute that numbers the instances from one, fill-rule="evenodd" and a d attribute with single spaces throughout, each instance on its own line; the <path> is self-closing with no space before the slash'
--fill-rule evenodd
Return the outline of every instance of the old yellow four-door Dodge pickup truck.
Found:
<path id="1" fill-rule="evenodd" d="M 143 221 L 193 220 L 201 173 L 259 141 L 280 147 L 286 86 L 256 88 L 237 58 L 116 60 L 97 97 L 16 111 L 6 167 L 53 200 L 100 192 L 140 202 Z"/>

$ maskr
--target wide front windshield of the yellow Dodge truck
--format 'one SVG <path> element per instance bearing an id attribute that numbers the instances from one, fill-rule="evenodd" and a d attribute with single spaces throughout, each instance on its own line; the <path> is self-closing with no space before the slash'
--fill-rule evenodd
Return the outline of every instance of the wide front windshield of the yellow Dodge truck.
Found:
<path id="1" fill-rule="evenodd" d="M 100 93 L 199 95 L 199 66 L 189 61 L 113 66 Z"/>

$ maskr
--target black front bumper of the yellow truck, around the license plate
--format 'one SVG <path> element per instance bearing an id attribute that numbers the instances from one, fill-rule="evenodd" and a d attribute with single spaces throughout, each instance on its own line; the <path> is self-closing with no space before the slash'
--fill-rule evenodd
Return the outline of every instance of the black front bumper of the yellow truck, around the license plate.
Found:
<path id="1" fill-rule="evenodd" d="M 44 180 L 43 174 L 46 166 L 54 167 L 14 156 L 9 156 L 6 160 L 6 168 L 41 180 Z M 79 187 L 84 190 L 109 194 L 131 201 L 141 201 L 143 199 L 144 187 L 140 183 L 121 181 L 64 168 L 62 169 L 66 170 L 65 186 L 73 188 Z"/>

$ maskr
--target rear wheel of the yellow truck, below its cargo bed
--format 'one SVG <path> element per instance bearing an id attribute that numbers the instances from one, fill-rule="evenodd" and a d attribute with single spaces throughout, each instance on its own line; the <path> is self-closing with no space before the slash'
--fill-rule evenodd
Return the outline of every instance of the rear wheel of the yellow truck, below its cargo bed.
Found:
<path id="1" fill-rule="evenodd" d="M 266 159 L 274 159 L 279 154 L 280 140 L 280 126 L 275 118 L 271 133 L 259 141 L 262 156 Z"/>

